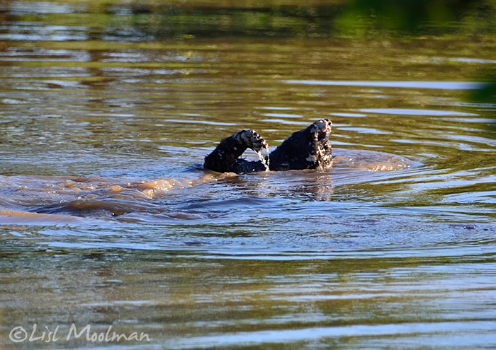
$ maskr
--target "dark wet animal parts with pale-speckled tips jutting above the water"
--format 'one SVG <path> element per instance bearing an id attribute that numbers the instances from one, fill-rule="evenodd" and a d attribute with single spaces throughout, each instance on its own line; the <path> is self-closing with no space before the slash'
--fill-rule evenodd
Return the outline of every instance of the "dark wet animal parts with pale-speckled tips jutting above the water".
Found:
<path id="1" fill-rule="evenodd" d="M 332 122 L 320 119 L 306 129 L 295 132 L 281 146 L 262 161 L 247 161 L 239 158 L 247 148 L 261 155 L 269 151 L 269 145 L 254 130 L 242 130 L 220 142 L 215 150 L 205 157 L 203 167 L 219 173 L 253 173 L 270 170 L 326 170 L 332 166 L 332 147 L 329 141 Z"/>

